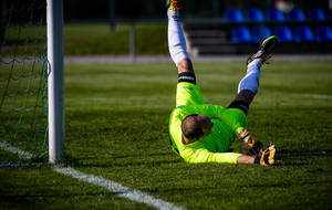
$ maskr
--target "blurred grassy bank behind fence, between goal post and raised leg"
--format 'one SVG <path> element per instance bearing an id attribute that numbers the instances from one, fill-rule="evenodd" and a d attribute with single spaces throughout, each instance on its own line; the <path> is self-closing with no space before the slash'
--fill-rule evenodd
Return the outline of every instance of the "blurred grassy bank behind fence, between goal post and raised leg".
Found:
<path id="1" fill-rule="evenodd" d="M 64 28 L 65 55 L 128 55 L 129 24 L 76 24 Z M 137 24 L 136 53 L 167 54 L 166 24 Z M 154 48 L 151 48 L 154 46 Z"/>

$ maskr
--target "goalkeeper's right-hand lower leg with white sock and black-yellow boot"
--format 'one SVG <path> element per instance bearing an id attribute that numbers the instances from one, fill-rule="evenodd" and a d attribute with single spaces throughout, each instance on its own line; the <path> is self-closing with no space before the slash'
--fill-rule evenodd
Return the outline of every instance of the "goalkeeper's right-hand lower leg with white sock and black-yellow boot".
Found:
<path id="1" fill-rule="evenodd" d="M 247 74 L 239 82 L 238 94 L 235 101 L 229 105 L 229 108 L 240 108 L 246 114 L 249 105 L 258 92 L 260 81 L 260 67 L 270 59 L 269 54 L 274 50 L 278 43 L 277 36 L 272 35 L 266 39 L 260 50 L 247 60 Z"/>

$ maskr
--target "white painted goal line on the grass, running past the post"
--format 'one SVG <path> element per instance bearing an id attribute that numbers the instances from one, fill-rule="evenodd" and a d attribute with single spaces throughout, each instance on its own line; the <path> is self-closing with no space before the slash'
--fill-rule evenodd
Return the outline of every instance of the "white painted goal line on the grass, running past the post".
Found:
<path id="1" fill-rule="evenodd" d="M 11 153 L 15 153 L 18 155 L 24 155 L 23 150 L 15 148 L 15 147 L 11 147 L 10 144 L 4 143 L 4 141 L 0 143 L 0 148 L 2 148 L 2 149 L 10 148 Z M 28 156 L 28 155 L 24 155 L 23 157 L 27 159 L 31 158 L 31 156 Z M 176 207 L 169 202 L 166 202 L 162 199 L 156 199 L 145 192 L 139 191 L 139 190 L 133 190 L 127 187 L 124 187 L 117 182 L 105 179 L 104 177 L 97 177 L 94 175 L 85 175 L 84 172 L 76 171 L 71 167 L 61 167 L 59 165 L 54 165 L 53 170 L 56 172 L 60 172 L 62 175 L 73 177 L 73 178 L 76 178 L 79 180 L 82 180 L 82 181 L 85 181 L 85 182 L 89 182 L 89 183 L 92 183 L 95 186 L 101 186 L 110 191 L 115 192 L 120 197 L 124 197 L 124 198 L 127 198 L 129 200 L 137 201 L 137 202 L 143 202 L 148 206 L 155 207 L 156 209 L 159 209 L 159 210 L 185 210 L 185 209 Z"/>

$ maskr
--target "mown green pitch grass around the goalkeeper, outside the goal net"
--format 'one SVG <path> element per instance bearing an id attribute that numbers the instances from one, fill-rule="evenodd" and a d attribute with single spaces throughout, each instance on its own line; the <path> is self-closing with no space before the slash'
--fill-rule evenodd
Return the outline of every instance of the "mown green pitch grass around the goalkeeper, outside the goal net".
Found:
<path id="1" fill-rule="evenodd" d="M 187 209 L 331 209 L 332 62 L 263 66 L 248 129 L 274 143 L 272 167 L 184 162 L 168 141 L 177 71 L 165 64 L 65 65 L 66 162 Z M 227 106 L 241 63 L 196 63 L 209 104 Z M 240 153 L 236 140 L 231 149 Z M 51 170 L 0 168 L 0 209 L 148 209 Z"/>

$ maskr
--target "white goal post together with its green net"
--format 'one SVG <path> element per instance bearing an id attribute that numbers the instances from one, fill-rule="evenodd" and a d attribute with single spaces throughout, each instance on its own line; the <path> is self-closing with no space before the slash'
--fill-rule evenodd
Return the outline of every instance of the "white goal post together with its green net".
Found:
<path id="1" fill-rule="evenodd" d="M 0 167 L 64 153 L 63 0 L 1 0 Z"/>

